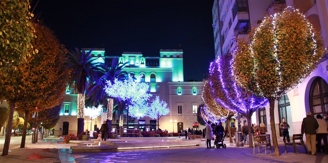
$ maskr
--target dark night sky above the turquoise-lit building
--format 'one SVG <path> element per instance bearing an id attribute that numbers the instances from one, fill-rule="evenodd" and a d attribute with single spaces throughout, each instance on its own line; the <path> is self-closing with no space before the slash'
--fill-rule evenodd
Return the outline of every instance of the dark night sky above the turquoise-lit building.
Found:
<path id="1" fill-rule="evenodd" d="M 68 50 L 105 48 L 159 56 L 183 49 L 184 80 L 202 81 L 215 58 L 214 0 L 33 0 L 34 15 Z"/>

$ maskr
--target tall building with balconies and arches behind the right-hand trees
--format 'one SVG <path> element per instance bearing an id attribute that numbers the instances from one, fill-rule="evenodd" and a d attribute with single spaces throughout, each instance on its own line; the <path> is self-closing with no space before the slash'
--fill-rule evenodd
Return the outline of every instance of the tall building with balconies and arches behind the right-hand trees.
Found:
<path id="1" fill-rule="evenodd" d="M 215 56 L 232 51 L 235 38 L 246 38 L 251 28 L 257 27 L 267 15 L 273 15 L 292 6 L 303 12 L 320 32 L 324 48 L 328 47 L 328 2 L 327 0 L 216 0 L 213 5 Z M 217 27 L 219 25 L 219 27 Z M 219 31 L 218 31 L 219 30 Z M 275 102 L 275 127 L 277 136 L 282 136 L 279 124 L 285 119 L 290 125 L 289 134 L 301 133 L 301 124 L 306 112 L 323 117 L 328 112 L 328 54 L 321 59 L 318 68 L 294 90 Z M 328 118 L 328 117 L 325 117 Z M 241 124 L 246 123 L 241 118 Z M 252 123 L 264 123 L 271 134 L 269 106 L 253 113 Z"/>

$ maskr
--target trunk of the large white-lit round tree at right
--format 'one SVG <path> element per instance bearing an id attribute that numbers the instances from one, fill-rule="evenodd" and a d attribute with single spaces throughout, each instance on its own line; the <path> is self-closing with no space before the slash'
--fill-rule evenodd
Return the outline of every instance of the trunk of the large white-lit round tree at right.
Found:
<path id="1" fill-rule="evenodd" d="M 275 156 L 280 156 L 278 141 L 277 141 L 276 124 L 275 124 L 275 99 L 269 99 L 269 103 L 270 103 L 270 126 L 271 126 L 272 144 L 275 150 Z"/>

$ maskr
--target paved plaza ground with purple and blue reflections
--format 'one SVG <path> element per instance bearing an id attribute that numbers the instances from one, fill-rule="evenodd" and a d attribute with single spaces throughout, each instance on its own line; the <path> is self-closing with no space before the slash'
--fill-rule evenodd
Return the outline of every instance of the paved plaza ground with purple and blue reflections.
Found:
<path id="1" fill-rule="evenodd" d="M 0 140 L 4 139 L 3 137 Z M 13 147 L 9 156 L 1 156 L 2 163 L 19 162 L 47 162 L 47 163 L 174 163 L 174 162 L 204 162 L 204 163 L 224 163 L 224 162 L 297 162 L 297 163 L 327 163 L 328 155 L 317 153 L 316 156 L 305 154 L 303 147 L 298 146 L 301 154 L 293 153 L 293 147 L 287 146 L 287 154 L 284 152 L 282 141 L 279 141 L 279 151 L 281 156 L 275 157 L 273 153 L 261 153 L 253 155 L 253 149 L 248 147 L 235 147 L 234 143 L 228 143 L 226 149 L 206 149 L 205 142 L 197 147 L 179 147 L 154 150 L 134 150 L 103 153 L 71 153 L 70 146 L 73 144 L 58 144 L 63 141 L 56 137 L 48 137 L 39 140 L 36 144 L 27 142 L 25 149 Z"/>

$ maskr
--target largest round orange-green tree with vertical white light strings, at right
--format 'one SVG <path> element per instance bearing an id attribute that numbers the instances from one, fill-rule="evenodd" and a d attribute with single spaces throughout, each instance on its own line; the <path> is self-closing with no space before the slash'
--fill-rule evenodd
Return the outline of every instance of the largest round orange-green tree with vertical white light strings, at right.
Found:
<path id="1" fill-rule="evenodd" d="M 270 102 L 270 124 L 275 156 L 279 156 L 274 103 L 317 68 L 325 54 L 320 35 L 298 10 L 285 9 L 266 17 L 239 40 L 234 56 L 237 84 Z"/>

